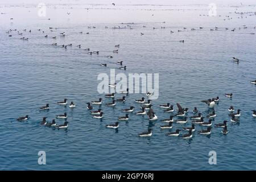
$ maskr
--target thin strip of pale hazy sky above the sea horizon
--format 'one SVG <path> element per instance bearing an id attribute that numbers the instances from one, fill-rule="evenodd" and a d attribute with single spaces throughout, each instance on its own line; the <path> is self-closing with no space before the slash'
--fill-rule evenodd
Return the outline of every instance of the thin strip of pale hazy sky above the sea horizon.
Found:
<path id="1" fill-rule="evenodd" d="M 10 3 L 94 3 L 94 4 L 155 4 L 155 5 L 188 5 L 188 4 L 209 4 L 220 5 L 255 5 L 255 0 L 1 0 L 0 4 Z"/>

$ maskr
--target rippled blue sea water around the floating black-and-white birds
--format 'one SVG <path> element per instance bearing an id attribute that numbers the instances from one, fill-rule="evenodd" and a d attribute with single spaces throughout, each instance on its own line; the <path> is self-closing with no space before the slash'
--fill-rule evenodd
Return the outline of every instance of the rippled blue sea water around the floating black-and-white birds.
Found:
<path id="1" fill-rule="evenodd" d="M 256 109 L 256 86 L 250 84 L 256 79 L 256 38 L 250 34 L 256 33 L 256 16 L 244 14 L 241 18 L 234 13 L 255 12 L 255 6 L 220 6 L 213 17 L 207 16 L 208 5 L 51 5 L 47 6 L 46 17 L 38 16 L 36 5 L 1 5 L 0 11 L 1 170 L 256 169 L 256 119 L 251 111 Z M 126 26 L 121 23 L 134 23 L 130 24 L 133 29 L 112 28 Z M 57 27 L 57 31 L 51 32 L 49 27 Z M 187 31 L 177 32 L 183 27 Z M 220 28 L 210 31 L 214 27 Z M 232 28 L 236 31 L 230 31 Z M 7 34 L 10 29 L 23 35 L 16 31 Z M 60 32 L 66 32 L 66 36 L 60 37 Z M 46 34 L 48 38 L 44 38 Z M 23 36 L 28 41 L 19 39 Z M 52 43 L 73 46 L 65 50 Z M 79 44 L 81 49 L 76 47 Z M 113 53 L 116 44 L 120 44 L 119 51 Z M 88 55 L 83 48 L 100 53 Z M 232 57 L 238 57 L 241 63 L 233 63 Z M 118 130 L 105 127 L 124 115 L 121 109 L 133 105 L 139 111 L 140 105 L 134 100 L 144 96 L 129 94 L 123 104 L 113 108 L 104 105 L 111 100 L 97 92 L 97 76 L 109 75 L 110 68 L 118 68 L 118 60 L 123 60 L 127 69 L 115 69 L 116 73 L 159 73 L 159 98 L 152 101 L 158 121 L 148 122 L 146 115 L 134 112 L 128 122 L 121 121 Z M 108 67 L 100 67 L 101 63 Z M 226 98 L 224 93 L 233 93 L 234 97 Z M 191 126 L 191 121 L 186 125 L 174 123 L 170 131 L 160 130 L 164 124 L 160 119 L 168 118 L 170 113 L 163 113 L 159 104 L 170 102 L 177 109 L 179 102 L 190 109 L 188 116 L 195 106 L 207 115 L 208 108 L 200 101 L 216 96 L 220 102 L 213 123 L 228 120 L 228 135 L 213 127 L 208 137 L 202 136 L 197 134 L 201 127 L 196 126 L 192 139 L 166 136 Z M 105 113 L 101 120 L 92 118 L 86 110 L 86 102 L 100 97 L 104 98 L 101 109 Z M 64 98 L 75 102 L 76 107 L 56 104 Z M 40 111 L 46 103 L 50 109 Z M 242 110 L 239 124 L 230 123 L 230 105 Z M 51 121 L 64 112 L 68 114 L 67 130 L 40 126 L 42 117 Z M 26 114 L 30 116 L 27 122 L 16 121 Z M 148 127 L 152 137 L 138 137 Z M 38 164 L 39 151 L 46 152 L 46 165 Z M 208 163 L 209 151 L 216 151 L 216 165 Z"/>

